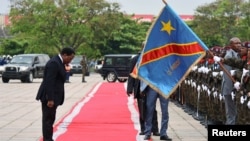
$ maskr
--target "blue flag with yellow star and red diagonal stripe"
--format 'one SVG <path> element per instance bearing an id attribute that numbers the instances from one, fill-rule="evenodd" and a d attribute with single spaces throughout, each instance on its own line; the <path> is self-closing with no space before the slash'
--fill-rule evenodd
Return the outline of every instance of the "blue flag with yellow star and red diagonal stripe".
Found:
<path id="1" fill-rule="evenodd" d="M 206 50 L 207 46 L 166 4 L 149 30 L 137 62 L 138 78 L 168 98 Z"/>

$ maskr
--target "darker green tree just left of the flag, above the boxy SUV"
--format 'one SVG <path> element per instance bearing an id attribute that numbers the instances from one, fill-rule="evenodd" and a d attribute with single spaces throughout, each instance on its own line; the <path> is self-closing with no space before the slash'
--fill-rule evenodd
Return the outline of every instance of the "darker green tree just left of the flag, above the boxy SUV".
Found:
<path id="1" fill-rule="evenodd" d="M 113 31 L 112 37 L 108 42 L 110 47 L 103 50 L 107 53 L 137 53 L 141 50 L 142 42 L 146 38 L 146 33 L 151 25 L 150 22 L 139 22 L 132 20 L 131 16 L 125 15 L 121 17 L 120 28 Z"/>

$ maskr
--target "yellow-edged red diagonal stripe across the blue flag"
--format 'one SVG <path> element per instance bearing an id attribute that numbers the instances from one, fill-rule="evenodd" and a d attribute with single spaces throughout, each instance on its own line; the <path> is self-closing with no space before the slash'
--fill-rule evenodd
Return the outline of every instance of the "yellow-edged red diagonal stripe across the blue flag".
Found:
<path id="1" fill-rule="evenodd" d="M 192 44 L 167 44 L 166 46 L 150 50 L 143 54 L 141 65 L 159 60 L 163 57 L 178 54 L 179 56 L 190 56 L 204 52 L 198 43 Z"/>

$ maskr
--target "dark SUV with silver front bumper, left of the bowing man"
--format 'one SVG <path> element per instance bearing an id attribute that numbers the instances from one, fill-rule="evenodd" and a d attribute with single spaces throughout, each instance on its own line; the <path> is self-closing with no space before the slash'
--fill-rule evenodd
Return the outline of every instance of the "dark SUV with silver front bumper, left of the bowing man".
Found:
<path id="1" fill-rule="evenodd" d="M 8 83 L 10 79 L 20 79 L 23 83 L 31 83 L 33 78 L 42 78 L 49 59 L 47 54 L 16 55 L 4 66 L 2 81 Z"/>

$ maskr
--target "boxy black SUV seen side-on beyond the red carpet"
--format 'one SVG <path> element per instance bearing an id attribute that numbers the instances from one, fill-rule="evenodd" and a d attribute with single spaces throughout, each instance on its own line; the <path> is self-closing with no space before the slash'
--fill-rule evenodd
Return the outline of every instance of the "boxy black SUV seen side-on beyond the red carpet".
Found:
<path id="1" fill-rule="evenodd" d="M 108 54 L 104 56 L 104 62 L 100 70 L 103 80 L 108 82 L 126 82 L 129 76 L 131 59 L 136 54 Z"/>

